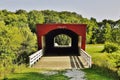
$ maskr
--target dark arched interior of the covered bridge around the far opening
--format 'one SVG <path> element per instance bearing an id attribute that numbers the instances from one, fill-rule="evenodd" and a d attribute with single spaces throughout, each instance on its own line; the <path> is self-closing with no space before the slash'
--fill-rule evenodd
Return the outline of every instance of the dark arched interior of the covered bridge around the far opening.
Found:
<path id="1" fill-rule="evenodd" d="M 66 34 L 71 37 L 71 47 L 55 47 L 54 37 L 59 34 Z M 68 29 L 55 29 L 45 35 L 44 56 L 78 56 L 78 35 Z"/>

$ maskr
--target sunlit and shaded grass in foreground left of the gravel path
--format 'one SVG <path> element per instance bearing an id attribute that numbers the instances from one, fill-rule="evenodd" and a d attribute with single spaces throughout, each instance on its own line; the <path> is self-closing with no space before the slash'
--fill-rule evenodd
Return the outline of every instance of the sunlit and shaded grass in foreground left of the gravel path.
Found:
<path id="1" fill-rule="evenodd" d="M 43 71 L 46 70 L 20 66 L 15 73 L 7 74 L 5 78 L 6 80 L 69 80 L 68 77 L 63 75 L 63 71 L 58 71 L 58 73 L 54 75 L 42 74 L 41 72 Z"/>

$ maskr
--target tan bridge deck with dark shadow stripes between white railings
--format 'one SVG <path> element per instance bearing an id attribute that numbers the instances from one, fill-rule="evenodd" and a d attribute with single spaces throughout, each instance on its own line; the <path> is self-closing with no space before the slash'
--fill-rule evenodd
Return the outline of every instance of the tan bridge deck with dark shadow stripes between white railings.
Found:
<path id="1" fill-rule="evenodd" d="M 44 56 L 33 66 L 33 68 L 52 70 L 80 69 L 83 67 L 80 56 Z"/>

